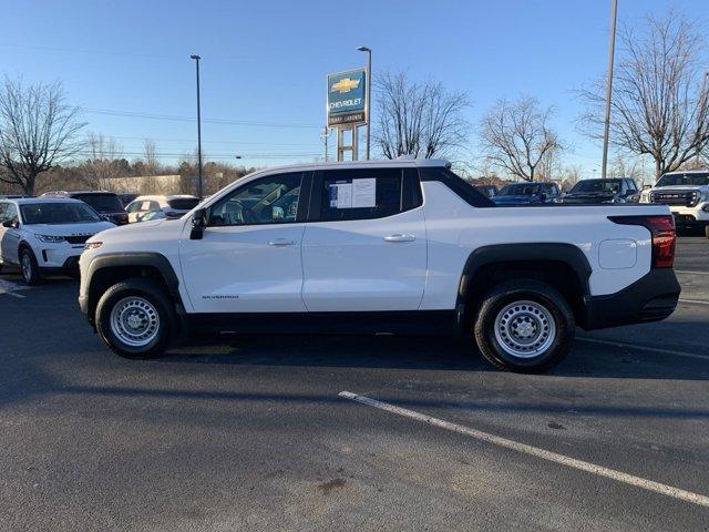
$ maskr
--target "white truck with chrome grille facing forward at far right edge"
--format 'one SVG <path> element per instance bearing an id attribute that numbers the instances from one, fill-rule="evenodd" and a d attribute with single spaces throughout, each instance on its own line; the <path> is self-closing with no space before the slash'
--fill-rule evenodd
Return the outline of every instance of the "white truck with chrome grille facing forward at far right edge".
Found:
<path id="1" fill-rule="evenodd" d="M 667 173 L 643 191 L 640 203 L 669 205 L 678 228 L 703 229 L 709 238 L 709 171 Z"/>

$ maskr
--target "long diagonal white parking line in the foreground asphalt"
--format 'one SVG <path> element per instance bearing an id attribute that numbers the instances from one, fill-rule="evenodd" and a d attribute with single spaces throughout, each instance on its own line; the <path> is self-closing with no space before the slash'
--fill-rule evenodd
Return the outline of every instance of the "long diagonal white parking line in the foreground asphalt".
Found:
<path id="1" fill-rule="evenodd" d="M 462 424 L 451 423 L 449 421 L 444 421 L 439 418 L 433 418 L 424 413 L 419 413 L 419 412 L 414 412 L 413 410 L 395 407 L 393 405 L 389 405 L 388 402 L 381 402 L 364 396 L 358 396 L 357 393 L 352 393 L 351 391 L 340 391 L 338 395 L 345 399 L 350 399 L 352 401 L 357 401 L 362 405 L 367 405 L 369 407 L 374 407 L 374 408 L 379 408 L 380 410 L 386 410 L 387 412 L 397 413 L 405 418 L 414 419 L 417 421 L 422 421 L 424 423 L 432 424 L 441 429 L 450 430 L 453 432 L 458 432 L 460 434 L 475 438 L 476 440 L 481 440 L 487 443 L 493 443 L 495 446 L 512 449 L 513 451 L 522 452 L 524 454 L 531 454 L 533 457 L 541 458 L 543 460 L 561 463 L 562 466 L 567 466 L 569 468 L 578 469 L 580 471 L 586 471 L 588 473 L 606 477 L 608 479 L 613 479 L 618 482 L 624 482 L 626 484 L 635 485 L 644 490 L 654 491 L 656 493 L 661 493 L 667 497 L 672 497 L 681 501 L 709 508 L 709 497 L 701 495 L 699 493 L 692 493 L 691 491 L 680 490 L 679 488 L 675 488 L 672 485 L 662 484 L 660 482 L 643 479 L 640 477 L 635 477 L 633 474 L 624 473 L 621 471 L 616 471 L 614 469 L 604 468 L 603 466 L 597 466 L 595 463 L 577 460 L 575 458 L 559 454 L 557 452 L 540 449 L 538 447 L 527 446 L 526 443 L 520 443 L 514 440 L 508 440 L 507 438 L 502 438 L 500 436 L 483 432 L 481 430 L 463 427 Z"/>

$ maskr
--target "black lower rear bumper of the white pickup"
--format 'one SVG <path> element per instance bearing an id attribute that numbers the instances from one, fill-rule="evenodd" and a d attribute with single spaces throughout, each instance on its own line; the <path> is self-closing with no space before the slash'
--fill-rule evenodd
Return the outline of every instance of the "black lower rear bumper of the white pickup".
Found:
<path id="1" fill-rule="evenodd" d="M 650 270 L 616 294 L 586 297 L 584 329 L 659 321 L 675 311 L 681 288 L 671 268 Z"/>

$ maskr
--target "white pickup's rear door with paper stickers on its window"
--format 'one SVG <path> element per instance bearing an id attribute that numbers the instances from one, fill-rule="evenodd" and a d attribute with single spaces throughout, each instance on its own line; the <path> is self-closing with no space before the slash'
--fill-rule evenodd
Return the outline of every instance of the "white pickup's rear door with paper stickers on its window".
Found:
<path id="1" fill-rule="evenodd" d="M 317 172 L 302 238 L 309 311 L 415 310 L 427 237 L 415 168 Z"/>

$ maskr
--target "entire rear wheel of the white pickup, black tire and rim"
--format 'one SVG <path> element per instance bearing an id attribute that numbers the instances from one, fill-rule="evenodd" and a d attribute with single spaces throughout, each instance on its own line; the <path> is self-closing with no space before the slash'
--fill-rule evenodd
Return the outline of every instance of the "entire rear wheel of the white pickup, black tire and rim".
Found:
<path id="1" fill-rule="evenodd" d="M 527 307 L 524 301 L 532 305 Z M 520 324 L 532 329 L 533 344 L 523 345 L 526 338 L 513 338 L 513 327 Z M 558 291 L 546 283 L 518 279 L 502 283 L 484 296 L 473 331 L 482 357 L 494 367 L 532 374 L 549 369 L 566 357 L 574 342 L 574 313 Z M 531 351 L 517 356 L 510 352 L 515 348 Z"/>

